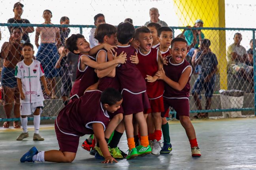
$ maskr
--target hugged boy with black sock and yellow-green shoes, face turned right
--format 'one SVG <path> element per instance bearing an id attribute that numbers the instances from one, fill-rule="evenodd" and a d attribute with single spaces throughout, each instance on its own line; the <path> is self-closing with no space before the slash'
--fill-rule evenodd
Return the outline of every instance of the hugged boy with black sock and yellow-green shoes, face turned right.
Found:
<path id="1" fill-rule="evenodd" d="M 107 43 L 109 45 L 115 45 L 116 43 L 116 32 L 117 28 L 110 24 L 100 24 L 97 26 L 95 30 L 94 38 L 98 40 L 100 44 Z M 121 53 L 123 54 L 123 52 Z M 117 55 L 117 54 L 115 54 Z M 96 62 L 99 64 L 105 63 L 108 61 L 112 61 L 113 55 L 108 53 L 106 50 L 99 50 L 96 55 Z M 108 87 L 114 88 L 116 90 L 120 90 L 119 80 L 115 76 L 115 70 L 117 65 L 113 65 L 109 68 L 104 70 L 97 70 L 97 76 L 99 78 L 98 90 L 104 91 Z M 124 133 L 124 122 L 123 119 L 123 109 L 122 106 L 115 111 L 110 117 L 109 125 L 105 131 L 105 138 L 109 139 L 111 134 L 114 131 L 114 135 L 109 142 L 110 153 L 114 158 L 124 158 L 127 156 L 126 153 L 119 150 L 117 145 L 119 144 L 120 138 Z M 98 151 L 98 147 L 96 146 L 95 149 Z M 99 151 L 98 151 L 99 152 Z"/>

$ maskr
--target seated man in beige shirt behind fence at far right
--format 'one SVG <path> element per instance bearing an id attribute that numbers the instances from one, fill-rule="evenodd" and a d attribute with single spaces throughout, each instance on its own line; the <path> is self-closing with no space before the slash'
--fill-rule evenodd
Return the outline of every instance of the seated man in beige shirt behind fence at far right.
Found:
<path id="1" fill-rule="evenodd" d="M 228 72 L 245 78 L 253 87 L 253 67 L 246 64 L 248 56 L 245 48 L 240 45 L 242 41 L 241 33 L 235 33 L 233 39 L 234 43 L 227 48 Z"/>

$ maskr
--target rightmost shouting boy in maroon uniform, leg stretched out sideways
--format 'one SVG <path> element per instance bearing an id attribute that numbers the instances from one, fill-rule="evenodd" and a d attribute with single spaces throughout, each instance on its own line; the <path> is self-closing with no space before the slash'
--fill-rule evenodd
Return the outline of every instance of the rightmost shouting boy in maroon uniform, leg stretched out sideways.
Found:
<path id="1" fill-rule="evenodd" d="M 188 52 L 187 41 L 181 37 L 176 37 L 171 41 L 171 57 L 168 57 L 168 65 L 165 65 L 162 71 L 158 71 L 156 76 L 164 80 L 164 109 L 173 107 L 177 112 L 176 118 L 180 120 L 181 125 L 188 136 L 192 157 L 200 157 L 201 152 L 196 140 L 196 132 L 189 118 L 189 91 L 190 76 L 192 67 L 184 59 Z M 162 112 L 162 117 L 165 112 Z"/>

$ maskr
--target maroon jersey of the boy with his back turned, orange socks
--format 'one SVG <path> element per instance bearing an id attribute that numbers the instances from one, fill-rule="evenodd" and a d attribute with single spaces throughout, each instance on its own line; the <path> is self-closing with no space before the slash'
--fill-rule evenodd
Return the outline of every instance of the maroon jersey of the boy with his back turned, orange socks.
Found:
<path id="1" fill-rule="evenodd" d="M 130 45 L 117 47 L 118 48 L 115 49 L 115 51 L 117 52 L 117 56 L 122 52 L 125 52 L 127 54 L 126 63 L 116 68 L 117 77 L 120 81 L 121 91 L 126 90 L 128 92 L 132 92 L 133 94 L 145 92 L 145 80 L 136 65 L 131 63 L 130 61 L 130 56 L 135 55 L 135 52 L 137 52 L 137 50 Z"/>

